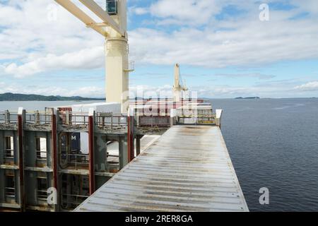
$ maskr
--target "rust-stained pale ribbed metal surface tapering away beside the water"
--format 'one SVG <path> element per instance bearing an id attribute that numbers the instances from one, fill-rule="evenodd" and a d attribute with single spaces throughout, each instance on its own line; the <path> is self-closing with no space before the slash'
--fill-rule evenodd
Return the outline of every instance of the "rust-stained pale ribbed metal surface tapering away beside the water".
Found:
<path id="1" fill-rule="evenodd" d="M 217 126 L 173 126 L 75 211 L 248 211 Z"/>

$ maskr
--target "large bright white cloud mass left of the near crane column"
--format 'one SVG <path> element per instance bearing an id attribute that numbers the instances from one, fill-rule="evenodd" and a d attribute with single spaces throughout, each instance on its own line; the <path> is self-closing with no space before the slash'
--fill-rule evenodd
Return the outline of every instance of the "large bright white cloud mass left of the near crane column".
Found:
<path id="1" fill-rule="evenodd" d="M 49 18 L 54 10 L 56 20 Z M 2 71 L 13 76 L 103 65 L 104 38 L 54 1 L 0 3 L 0 28 Z"/>

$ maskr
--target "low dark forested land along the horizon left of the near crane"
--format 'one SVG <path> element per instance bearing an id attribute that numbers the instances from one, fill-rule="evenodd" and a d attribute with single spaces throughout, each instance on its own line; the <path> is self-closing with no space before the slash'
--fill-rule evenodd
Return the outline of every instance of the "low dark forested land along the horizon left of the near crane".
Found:
<path id="1" fill-rule="evenodd" d="M 0 101 L 85 101 L 85 100 L 105 100 L 105 98 L 88 98 L 88 97 L 61 97 L 45 96 L 35 94 L 20 94 L 20 93 L 3 93 L 0 94 Z"/>

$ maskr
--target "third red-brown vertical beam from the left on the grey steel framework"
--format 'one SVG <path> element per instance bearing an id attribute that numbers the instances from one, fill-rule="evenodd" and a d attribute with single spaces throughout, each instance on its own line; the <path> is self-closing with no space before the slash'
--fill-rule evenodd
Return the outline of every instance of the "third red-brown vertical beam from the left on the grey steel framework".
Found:
<path id="1" fill-rule="evenodd" d="M 95 192 L 95 167 L 94 167 L 94 116 L 88 117 L 88 150 L 89 150 L 89 183 L 90 195 Z"/>

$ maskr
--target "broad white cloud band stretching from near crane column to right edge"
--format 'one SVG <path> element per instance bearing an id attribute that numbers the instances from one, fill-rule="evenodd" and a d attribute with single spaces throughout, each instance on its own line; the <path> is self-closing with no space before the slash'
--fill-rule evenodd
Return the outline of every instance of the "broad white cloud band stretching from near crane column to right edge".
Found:
<path id="1" fill-rule="evenodd" d="M 259 66 L 318 57 L 318 26 L 313 20 L 220 22 L 219 27 L 222 26 L 230 30 L 133 30 L 131 57 L 143 64 L 179 62 L 209 68 Z"/>

